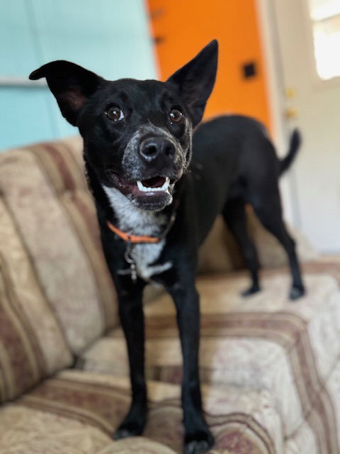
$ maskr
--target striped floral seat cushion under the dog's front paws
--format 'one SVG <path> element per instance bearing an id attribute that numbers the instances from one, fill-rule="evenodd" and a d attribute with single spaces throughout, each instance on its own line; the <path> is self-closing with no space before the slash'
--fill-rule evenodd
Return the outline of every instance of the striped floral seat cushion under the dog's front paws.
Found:
<path id="1" fill-rule="evenodd" d="M 88 431 L 87 444 L 91 449 L 98 450 L 105 446 L 105 453 L 126 452 L 124 445 L 134 445 L 133 441 L 125 441 L 122 446 L 113 443 L 111 447 L 105 443 L 108 443 L 115 427 L 128 410 L 129 387 L 127 378 L 117 379 L 110 375 L 75 370 L 61 372 L 25 394 L 16 404 L 5 407 L 2 414 L 0 412 L 0 446 L 4 452 L 11 448 L 11 453 L 20 453 L 23 426 L 28 423 L 32 443 L 30 452 L 33 453 L 50 453 L 47 447 L 51 438 L 55 437 L 55 446 L 59 444 L 62 448 L 66 441 L 69 446 L 74 443 L 72 448 L 79 450 L 75 452 L 82 452 L 84 440 L 81 435 L 85 433 L 84 426 Z M 150 381 L 148 391 L 149 416 L 144 436 L 152 443 L 145 452 L 181 453 L 183 426 L 180 387 Z M 205 416 L 215 435 L 215 453 L 222 454 L 225 450 L 238 454 L 282 452 L 280 419 L 268 392 L 244 392 L 238 387 L 203 387 L 203 404 Z M 45 422 L 42 423 L 44 412 L 47 415 L 46 426 Z M 62 431 L 62 425 L 67 429 L 66 433 Z M 42 426 L 52 427 L 47 437 L 42 438 Z M 21 438 L 15 436 L 15 433 L 20 433 Z M 148 446 L 147 440 L 142 442 L 145 447 Z M 159 451 L 152 449 L 153 443 L 159 443 Z M 137 451 L 137 446 L 134 449 L 140 452 Z"/>

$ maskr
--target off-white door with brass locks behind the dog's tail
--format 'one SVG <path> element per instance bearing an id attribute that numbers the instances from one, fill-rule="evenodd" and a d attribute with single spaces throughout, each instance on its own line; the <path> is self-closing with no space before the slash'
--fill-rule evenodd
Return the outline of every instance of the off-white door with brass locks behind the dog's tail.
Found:
<path id="1" fill-rule="evenodd" d="M 300 128 L 303 137 L 294 164 L 301 228 L 319 251 L 339 253 L 339 78 L 317 79 L 307 0 L 274 0 L 274 6 L 286 121 L 288 128 Z"/>

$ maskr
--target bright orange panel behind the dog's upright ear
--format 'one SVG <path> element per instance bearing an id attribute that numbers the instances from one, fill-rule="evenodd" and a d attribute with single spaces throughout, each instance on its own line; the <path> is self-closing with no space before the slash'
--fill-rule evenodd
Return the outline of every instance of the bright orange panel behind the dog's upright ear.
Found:
<path id="1" fill-rule="evenodd" d="M 147 0 L 159 77 L 164 80 L 210 40 L 220 44 L 205 117 L 254 116 L 270 128 L 256 0 Z"/>

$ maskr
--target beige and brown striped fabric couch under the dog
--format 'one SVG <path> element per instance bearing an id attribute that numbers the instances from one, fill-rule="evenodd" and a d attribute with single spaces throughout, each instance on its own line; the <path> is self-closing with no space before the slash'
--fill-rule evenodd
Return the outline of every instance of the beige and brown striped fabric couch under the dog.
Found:
<path id="1" fill-rule="evenodd" d="M 307 296 L 288 300 L 285 255 L 249 211 L 262 292 L 222 221 L 200 253 L 200 376 L 213 454 L 340 452 L 340 259 L 299 245 Z M 0 154 L 0 453 L 181 453 L 174 306 L 145 301 L 149 418 L 113 441 L 130 386 L 79 137 Z"/>

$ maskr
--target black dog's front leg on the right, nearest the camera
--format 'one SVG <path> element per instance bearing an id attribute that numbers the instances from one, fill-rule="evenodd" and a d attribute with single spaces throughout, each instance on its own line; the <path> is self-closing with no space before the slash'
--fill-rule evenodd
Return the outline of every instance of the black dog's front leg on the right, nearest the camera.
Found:
<path id="1" fill-rule="evenodd" d="M 185 427 L 185 453 L 208 452 L 214 441 L 203 417 L 198 370 L 200 304 L 195 284 L 174 284 L 169 289 L 176 304 L 177 323 L 183 354 L 182 404 Z"/>

